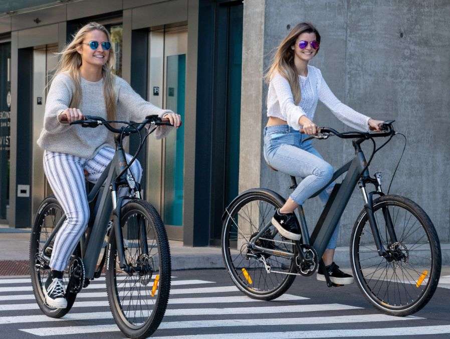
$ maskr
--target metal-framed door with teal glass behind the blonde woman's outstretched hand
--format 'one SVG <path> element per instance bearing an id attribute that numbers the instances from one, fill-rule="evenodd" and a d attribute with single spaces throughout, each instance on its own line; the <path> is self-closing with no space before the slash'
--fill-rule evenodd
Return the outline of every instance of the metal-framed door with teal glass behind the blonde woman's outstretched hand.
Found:
<path id="1" fill-rule="evenodd" d="M 184 120 L 187 29 L 149 34 L 149 99 Z M 148 200 L 161 213 L 169 239 L 183 239 L 184 127 L 149 141 Z"/>

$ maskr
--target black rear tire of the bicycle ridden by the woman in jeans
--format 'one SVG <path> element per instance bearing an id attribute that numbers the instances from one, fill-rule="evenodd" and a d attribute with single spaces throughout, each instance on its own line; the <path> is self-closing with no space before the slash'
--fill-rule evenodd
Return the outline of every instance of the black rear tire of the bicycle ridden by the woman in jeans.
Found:
<path id="1" fill-rule="evenodd" d="M 255 289 L 250 287 L 250 284 L 253 284 L 253 281 L 250 281 L 244 277 L 242 277 L 241 273 L 239 273 L 239 268 L 236 268 L 233 265 L 233 258 L 232 253 L 230 249 L 230 234 L 232 231 L 232 225 L 234 218 L 234 214 L 239 214 L 239 210 L 244 207 L 247 203 L 252 203 L 254 201 L 264 201 L 269 204 L 273 205 L 274 211 L 280 207 L 282 207 L 285 203 L 284 199 L 277 193 L 266 190 L 266 189 L 253 189 L 246 191 L 242 193 L 240 196 L 238 196 L 227 208 L 227 211 L 225 212 L 226 215 L 223 220 L 223 226 L 222 226 L 222 234 L 221 234 L 221 250 L 222 250 L 222 258 L 223 262 L 225 263 L 225 266 L 227 268 L 227 271 L 233 281 L 233 283 L 238 287 L 242 292 L 244 292 L 246 295 L 248 295 L 251 298 L 254 299 L 260 299 L 260 300 L 273 300 L 275 298 L 278 298 L 282 294 L 284 294 L 289 287 L 291 287 L 292 283 L 295 280 L 296 275 L 294 274 L 286 274 L 282 280 L 282 282 L 274 287 L 273 289 L 270 289 L 268 291 L 261 291 L 260 289 Z M 229 213 L 229 214 L 228 214 Z M 272 219 L 272 215 L 270 215 L 270 219 Z M 236 227 L 236 226 L 235 226 Z M 283 238 L 284 239 L 284 238 Z M 288 240 L 290 241 L 290 240 Z M 295 248 L 295 246 L 293 246 Z M 295 249 L 293 249 L 295 251 Z M 295 252 L 294 252 L 295 253 Z M 252 259 L 249 259 L 252 260 Z M 250 264 L 249 264 L 250 265 Z M 242 270 L 242 269 L 241 269 Z M 294 260 L 291 259 L 289 269 L 286 270 L 287 273 L 294 273 L 296 272 L 296 267 Z M 244 272 L 243 272 L 244 273 Z M 249 273 L 247 273 L 249 274 Z M 263 270 L 261 270 L 260 274 L 267 274 Z M 277 274 L 277 273 L 274 273 Z M 282 275 L 282 274 L 280 274 Z M 245 278 L 245 279 L 244 279 Z M 244 281 L 247 280 L 247 283 Z"/>

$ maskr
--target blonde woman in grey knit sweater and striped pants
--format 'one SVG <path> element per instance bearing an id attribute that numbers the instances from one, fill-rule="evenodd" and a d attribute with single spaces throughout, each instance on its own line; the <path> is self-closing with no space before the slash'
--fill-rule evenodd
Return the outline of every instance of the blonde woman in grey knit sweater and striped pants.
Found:
<path id="1" fill-rule="evenodd" d="M 109 32 L 102 25 L 89 23 L 81 28 L 60 54 L 38 139 L 39 146 L 45 149 L 45 174 L 67 218 L 55 237 L 52 274 L 44 286 L 46 302 L 55 308 L 67 307 L 63 271 L 89 220 L 84 172 L 88 181 L 96 182 L 114 155 L 112 132 L 63 124 L 61 117 L 65 115 L 69 122 L 84 115 L 141 121 L 149 114 L 157 114 L 174 126 L 180 125 L 178 114 L 145 101 L 125 80 L 113 74 L 114 51 Z M 156 137 L 161 138 L 171 127 L 158 129 Z M 126 157 L 131 159 L 129 154 Z M 130 170 L 140 182 L 142 168 L 137 160 Z"/>

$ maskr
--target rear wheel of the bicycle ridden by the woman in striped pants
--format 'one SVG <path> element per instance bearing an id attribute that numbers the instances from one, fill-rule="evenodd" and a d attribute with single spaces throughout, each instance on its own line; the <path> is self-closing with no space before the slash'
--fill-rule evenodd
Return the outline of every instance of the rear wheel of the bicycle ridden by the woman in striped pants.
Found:
<path id="1" fill-rule="evenodd" d="M 53 196 L 47 197 L 42 201 L 38 213 L 36 214 L 30 237 L 30 275 L 33 293 L 39 308 L 41 308 L 44 314 L 52 318 L 60 318 L 67 314 L 72 308 L 76 298 L 76 294 L 66 291 L 66 308 L 51 308 L 45 303 L 43 286 L 48 276 L 51 274 L 49 267 L 50 261 L 47 258 L 52 256 L 53 240 L 47 248 L 46 253 L 43 253 L 43 246 L 62 218 L 65 218 L 65 214 L 61 205 L 58 203 L 58 200 Z M 77 251 L 77 249 L 75 251 Z M 63 281 L 64 285 L 67 287 L 67 271 L 64 271 Z"/>

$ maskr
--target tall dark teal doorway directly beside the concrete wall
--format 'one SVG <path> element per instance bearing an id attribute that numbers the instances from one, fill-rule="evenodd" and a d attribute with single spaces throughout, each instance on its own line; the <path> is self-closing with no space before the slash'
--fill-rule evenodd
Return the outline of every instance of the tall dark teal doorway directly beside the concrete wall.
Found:
<path id="1" fill-rule="evenodd" d="M 216 7 L 211 163 L 211 244 L 221 215 L 239 191 L 243 4 Z"/>

